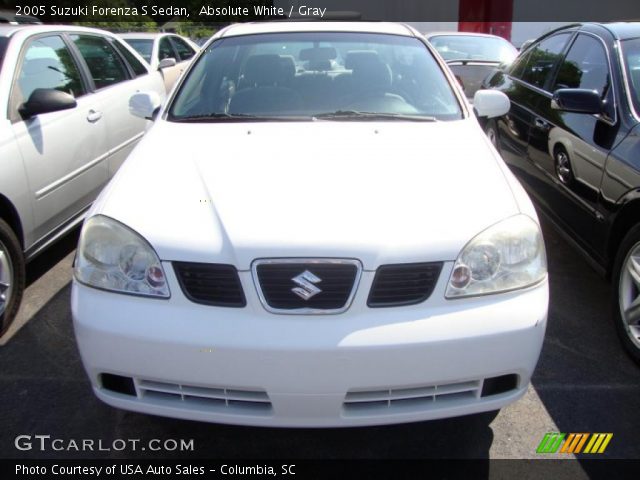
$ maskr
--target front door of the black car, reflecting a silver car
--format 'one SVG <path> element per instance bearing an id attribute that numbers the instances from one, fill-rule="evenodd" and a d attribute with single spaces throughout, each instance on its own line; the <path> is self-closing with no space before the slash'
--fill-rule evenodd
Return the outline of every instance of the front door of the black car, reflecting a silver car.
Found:
<path id="1" fill-rule="evenodd" d="M 579 33 L 549 89 L 596 90 L 605 102 L 604 111 L 600 115 L 562 112 L 545 98 L 538 106 L 529 146 L 529 156 L 546 173 L 551 187 L 545 196 L 548 213 L 592 254 L 604 241 L 604 231 L 598 228 L 603 218 L 598 192 L 619 126 L 611 79 L 604 42 L 595 35 Z"/>

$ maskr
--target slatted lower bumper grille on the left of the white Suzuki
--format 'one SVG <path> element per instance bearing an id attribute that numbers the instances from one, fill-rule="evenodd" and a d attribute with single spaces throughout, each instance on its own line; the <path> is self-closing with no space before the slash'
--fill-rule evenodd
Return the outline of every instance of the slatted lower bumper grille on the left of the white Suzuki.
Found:
<path id="1" fill-rule="evenodd" d="M 199 387 L 141 379 L 137 381 L 137 388 L 142 400 L 158 405 L 241 415 L 270 415 L 272 411 L 264 390 Z"/>

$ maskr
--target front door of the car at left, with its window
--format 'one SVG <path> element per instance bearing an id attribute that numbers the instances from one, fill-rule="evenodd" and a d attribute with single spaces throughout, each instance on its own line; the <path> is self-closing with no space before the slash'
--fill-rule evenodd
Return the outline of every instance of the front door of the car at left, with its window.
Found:
<path id="1" fill-rule="evenodd" d="M 37 88 L 67 92 L 77 106 L 22 118 L 18 110 Z M 106 182 L 103 160 L 109 145 L 98 104 L 64 35 L 40 35 L 25 43 L 11 87 L 9 117 L 29 181 L 35 239 L 77 216 Z"/>

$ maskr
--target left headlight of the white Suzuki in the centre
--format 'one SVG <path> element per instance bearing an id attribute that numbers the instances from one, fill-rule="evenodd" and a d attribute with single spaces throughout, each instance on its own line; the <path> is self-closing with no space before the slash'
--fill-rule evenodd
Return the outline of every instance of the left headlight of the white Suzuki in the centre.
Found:
<path id="1" fill-rule="evenodd" d="M 170 296 L 162 264 L 151 245 L 103 215 L 89 218 L 82 227 L 74 275 L 79 282 L 104 290 Z"/>

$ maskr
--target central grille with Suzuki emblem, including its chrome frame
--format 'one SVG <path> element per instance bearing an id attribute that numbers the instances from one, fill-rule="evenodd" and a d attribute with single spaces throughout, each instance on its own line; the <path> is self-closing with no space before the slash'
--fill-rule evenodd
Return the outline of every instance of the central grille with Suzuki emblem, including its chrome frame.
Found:
<path id="1" fill-rule="evenodd" d="M 357 260 L 259 260 L 254 276 L 260 299 L 276 313 L 339 313 L 349 307 L 361 266 Z M 307 279 L 294 280 L 304 275 Z M 309 298 L 302 298 L 295 290 Z"/>

